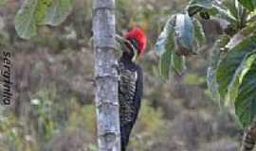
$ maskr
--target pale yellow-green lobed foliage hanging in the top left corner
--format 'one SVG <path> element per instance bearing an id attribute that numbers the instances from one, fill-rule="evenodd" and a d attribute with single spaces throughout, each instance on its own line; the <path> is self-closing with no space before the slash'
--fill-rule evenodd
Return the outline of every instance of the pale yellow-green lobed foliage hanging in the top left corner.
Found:
<path id="1" fill-rule="evenodd" d="M 60 25 L 70 14 L 73 0 L 26 0 L 15 18 L 15 28 L 23 39 L 36 36 L 40 25 Z"/>

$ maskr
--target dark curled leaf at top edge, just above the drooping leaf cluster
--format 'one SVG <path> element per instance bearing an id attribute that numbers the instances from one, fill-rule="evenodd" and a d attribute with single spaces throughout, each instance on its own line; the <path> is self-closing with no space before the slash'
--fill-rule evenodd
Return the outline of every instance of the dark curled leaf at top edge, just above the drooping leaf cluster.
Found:
<path id="1" fill-rule="evenodd" d="M 192 0 L 188 6 L 188 13 L 190 16 L 195 15 L 197 12 L 209 10 L 212 8 L 211 0 Z"/>

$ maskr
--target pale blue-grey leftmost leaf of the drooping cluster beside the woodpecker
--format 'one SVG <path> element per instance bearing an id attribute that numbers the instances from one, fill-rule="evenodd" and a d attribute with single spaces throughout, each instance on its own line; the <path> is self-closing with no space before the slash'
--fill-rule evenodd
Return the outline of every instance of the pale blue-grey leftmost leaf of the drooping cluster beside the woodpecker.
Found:
<path id="1" fill-rule="evenodd" d="M 155 43 L 155 52 L 158 56 L 161 56 L 166 51 L 166 46 L 169 41 L 174 41 L 174 25 L 175 25 L 175 15 L 171 16 L 167 21 L 166 25 L 164 26 L 163 31 L 159 35 L 156 43 Z"/>

